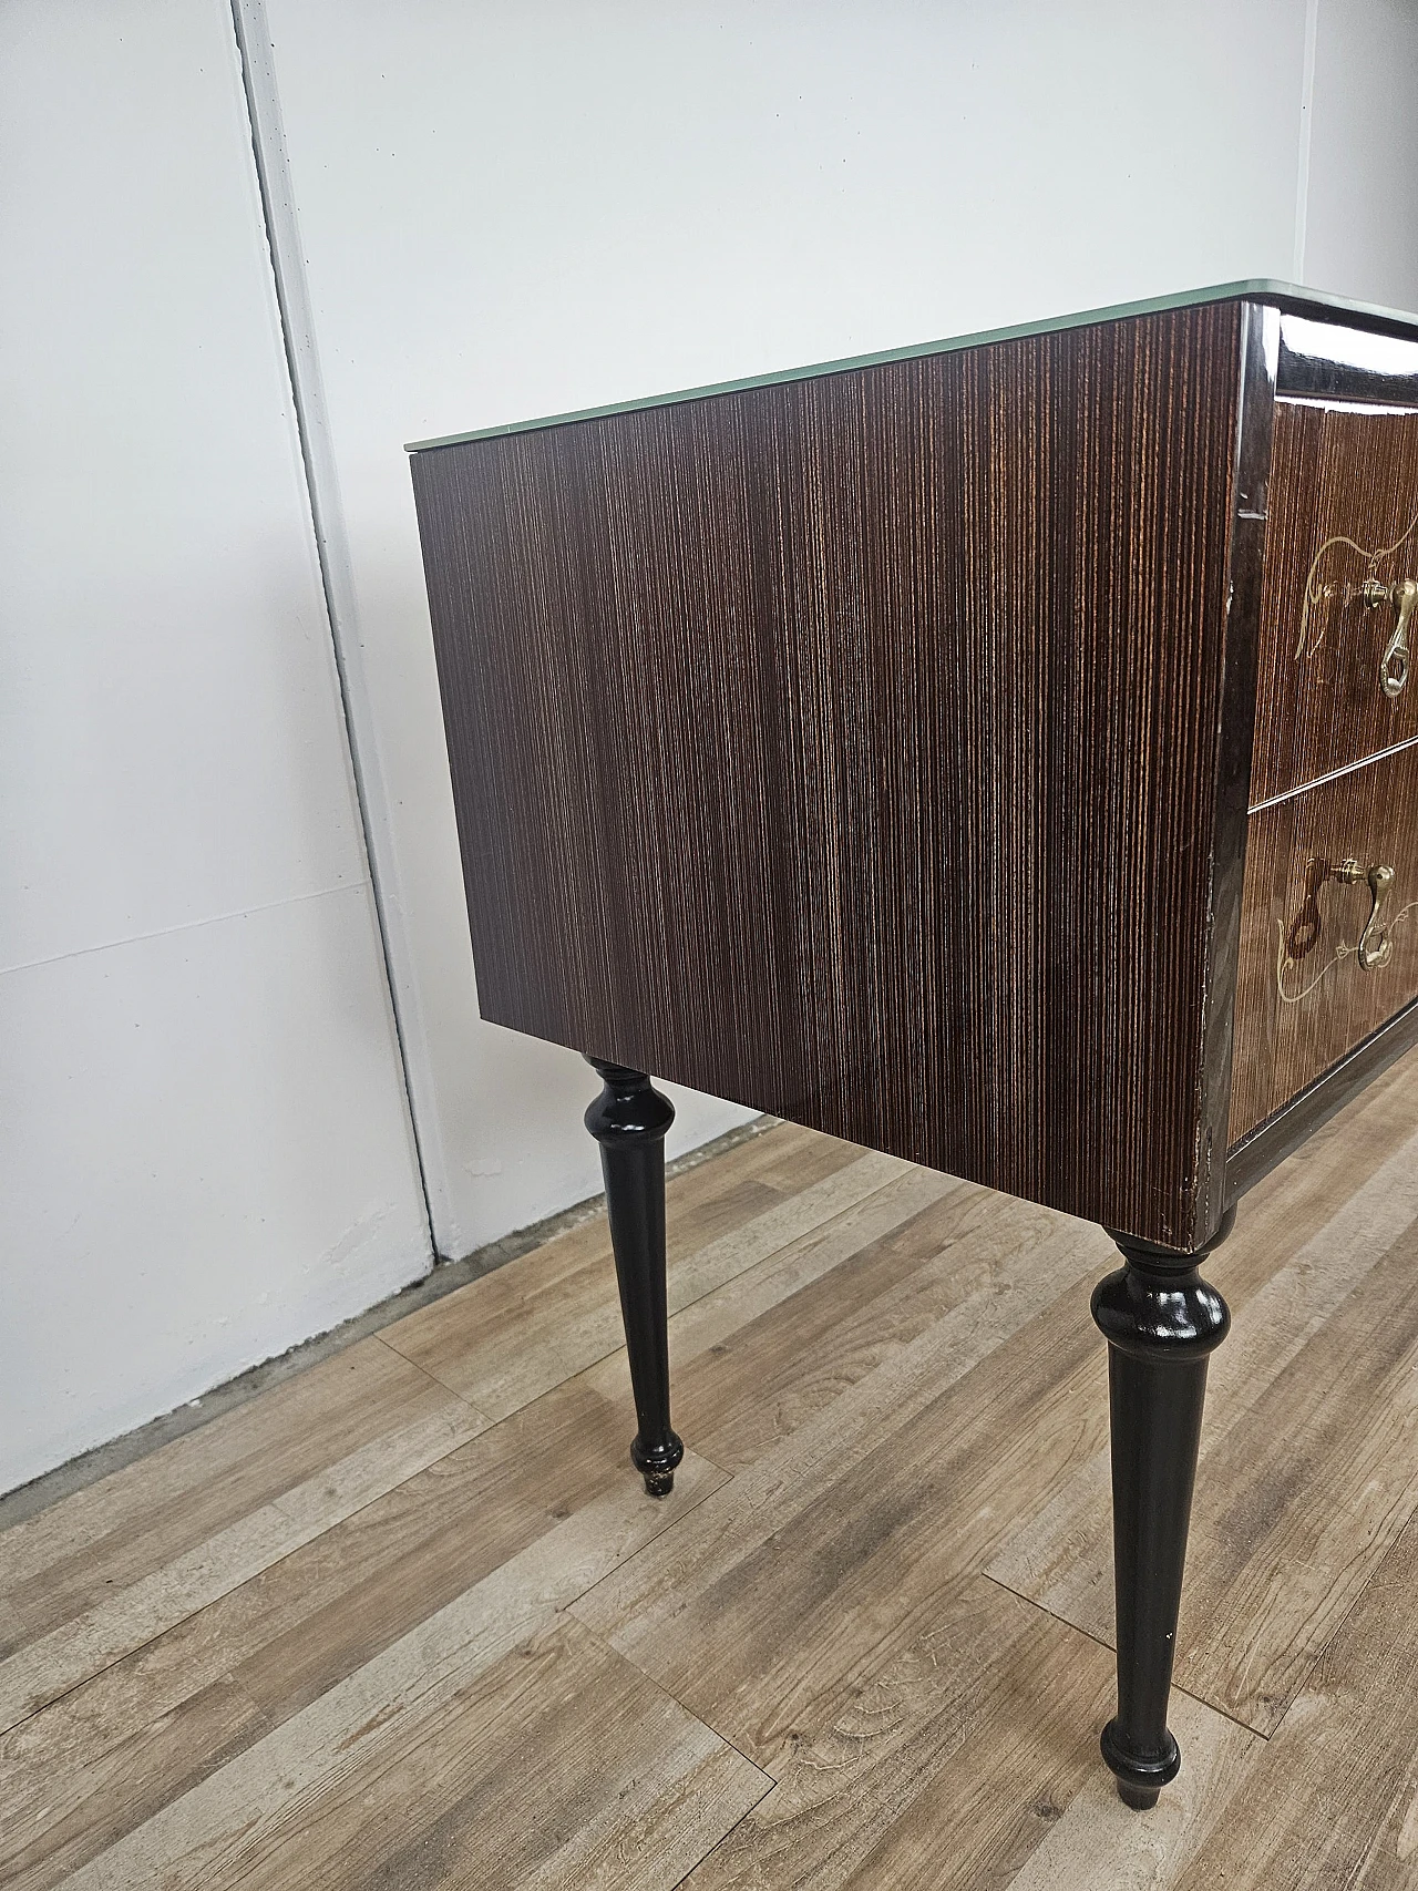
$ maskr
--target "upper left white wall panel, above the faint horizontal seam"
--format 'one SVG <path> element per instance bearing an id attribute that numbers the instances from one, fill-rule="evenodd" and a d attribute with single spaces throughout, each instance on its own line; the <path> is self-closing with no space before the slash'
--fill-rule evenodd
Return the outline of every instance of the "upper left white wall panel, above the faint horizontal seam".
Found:
<path id="1" fill-rule="evenodd" d="M 229 17 L 0 32 L 11 966 L 365 860 Z"/>

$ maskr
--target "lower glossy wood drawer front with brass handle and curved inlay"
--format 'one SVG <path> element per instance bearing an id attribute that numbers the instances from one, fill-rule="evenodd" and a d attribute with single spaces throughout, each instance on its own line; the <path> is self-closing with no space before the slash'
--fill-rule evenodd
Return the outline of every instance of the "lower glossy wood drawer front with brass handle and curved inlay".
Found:
<path id="1" fill-rule="evenodd" d="M 1418 995 L 1418 747 L 1250 817 L 1231 1144 Z"/>

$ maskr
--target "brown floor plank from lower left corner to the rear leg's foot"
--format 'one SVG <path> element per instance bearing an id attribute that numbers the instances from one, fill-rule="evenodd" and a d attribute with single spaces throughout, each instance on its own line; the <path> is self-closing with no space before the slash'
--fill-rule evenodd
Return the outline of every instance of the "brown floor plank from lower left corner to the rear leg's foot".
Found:
<path id="1" fill-rule="evenodd" d="M 575 1511 L 633 1488 L 624 1413 L 580 1386 L 429 1466 L 0 1736 L 0 1883 L 53 1883 Z"/>

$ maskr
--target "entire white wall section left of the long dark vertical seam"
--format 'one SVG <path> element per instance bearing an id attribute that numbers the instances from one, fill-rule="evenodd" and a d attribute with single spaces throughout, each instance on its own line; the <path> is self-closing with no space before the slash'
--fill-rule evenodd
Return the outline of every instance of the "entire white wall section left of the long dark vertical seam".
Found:
<path id="1" fill-rule="evenodd" d="M 0 9 L 0 1488 L 429 1265 L 219 0 Z"/>

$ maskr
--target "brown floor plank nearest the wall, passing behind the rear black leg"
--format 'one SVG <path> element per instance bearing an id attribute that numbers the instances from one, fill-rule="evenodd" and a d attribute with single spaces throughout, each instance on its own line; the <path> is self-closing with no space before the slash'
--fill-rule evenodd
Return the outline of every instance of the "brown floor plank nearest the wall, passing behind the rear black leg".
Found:
<path id="1" fill-rule="evenodd" d="M 671 1310 L 909 1169 L 892 1155 L 813 1138 L 792 1125 L 770 1129 L 720 1161 L 720 1178 L 705 1176 L 701 1165 L 666 1191 Z M 382 1337 L 480 1411 L 507 1416 L 622 1345 L 605 1218 L 422 1307 Z"/>

